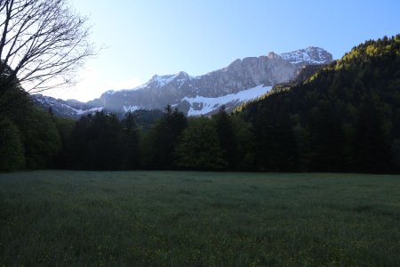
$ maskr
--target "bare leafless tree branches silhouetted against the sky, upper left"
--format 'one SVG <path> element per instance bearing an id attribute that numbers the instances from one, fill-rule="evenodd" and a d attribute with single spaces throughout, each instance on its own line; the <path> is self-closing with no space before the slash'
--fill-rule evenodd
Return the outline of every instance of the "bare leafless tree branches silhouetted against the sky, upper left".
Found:
<path id="1" fill-rule="evenodd" d="M 97 54 L 89 35 L 87 18 L 68 0 L 0 0 L 0 76 L 30 93 L 74 85 Z"/>

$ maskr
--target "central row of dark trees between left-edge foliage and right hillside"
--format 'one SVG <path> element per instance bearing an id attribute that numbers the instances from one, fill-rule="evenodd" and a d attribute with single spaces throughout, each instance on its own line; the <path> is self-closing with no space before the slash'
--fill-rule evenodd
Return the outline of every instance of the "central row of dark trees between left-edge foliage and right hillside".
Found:
<path id="1" fill-rule="evenodd" d="M 66 125 L 67 123 L 67 125 Z M 58 168 L 79 170 L 251 169 L 239 155 L 251 153 L 250 125 L 225 109 L 213 117 L 185 117 L 167 106 L 150 129 L 128 112 L 97 112 L 76 122 L 57 119 L 63 149 L 54 157 Z M 248 158 L 248 157 L 247 157 Z"/>

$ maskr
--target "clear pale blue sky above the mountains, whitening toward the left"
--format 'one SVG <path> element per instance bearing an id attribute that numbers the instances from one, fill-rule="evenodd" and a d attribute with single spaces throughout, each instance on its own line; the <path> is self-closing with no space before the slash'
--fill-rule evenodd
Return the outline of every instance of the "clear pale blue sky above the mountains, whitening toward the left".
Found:
<path id="1" fill-rule="evenodd" d="M 398 0 L 69 0 L 88 16 L 100 53 L 74 87 L 52 97 L 89 101 L 154 75 L 191 76 L 236 59 L 319 46 L 340 59 L 368 39 L 400 33 Z"/>

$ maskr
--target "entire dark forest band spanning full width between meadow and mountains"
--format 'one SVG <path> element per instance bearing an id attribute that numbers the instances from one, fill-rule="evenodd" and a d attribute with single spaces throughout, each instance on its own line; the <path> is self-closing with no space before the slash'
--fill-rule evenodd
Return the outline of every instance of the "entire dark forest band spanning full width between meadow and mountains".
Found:
<path id="1" fill-rule="evenodd" d="M 55 117 L 0 77 L 0 170 L 400 173 L 400 35 L 311 69 L 232 114 L 168 105 L 155 123 L 140 112 Z"/>

